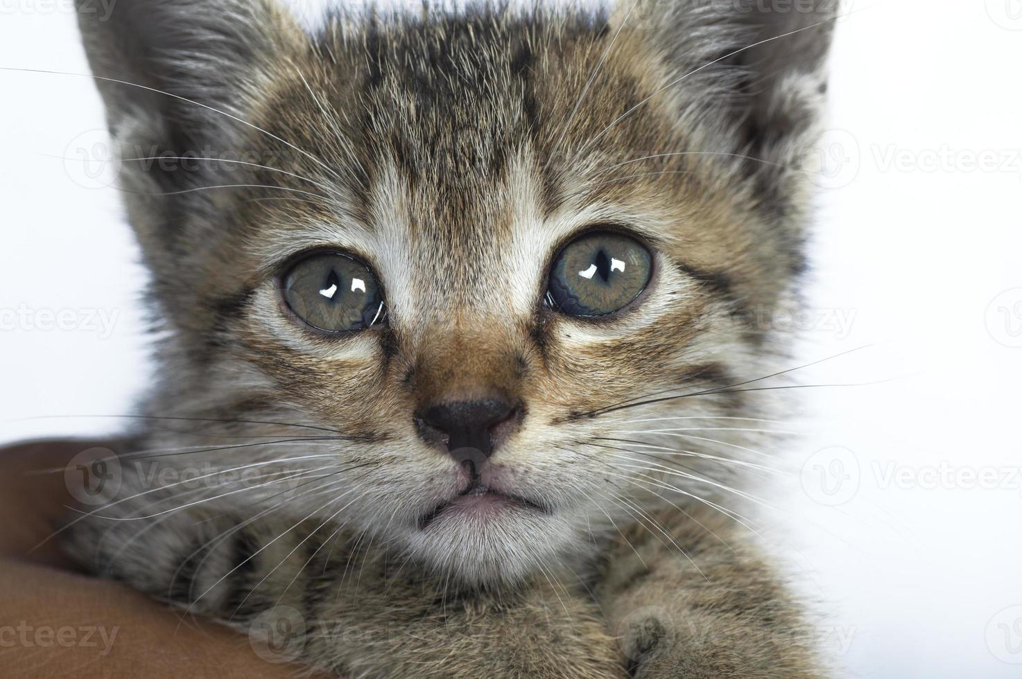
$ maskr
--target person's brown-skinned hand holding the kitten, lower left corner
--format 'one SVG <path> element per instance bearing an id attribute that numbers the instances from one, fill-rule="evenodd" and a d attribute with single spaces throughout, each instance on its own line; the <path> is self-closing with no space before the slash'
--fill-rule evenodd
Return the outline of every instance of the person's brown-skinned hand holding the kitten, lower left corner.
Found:
<path id="1" fill-rule="evenodd" d="M 75 504 L 65 465 L 83 450 L 112 444 L 43 441 L 0 448 L 2 674 L 273 679 L 300 672 L 261 659 L 233 630 L 76 572 L 56 539 L 40 545 Z"/>

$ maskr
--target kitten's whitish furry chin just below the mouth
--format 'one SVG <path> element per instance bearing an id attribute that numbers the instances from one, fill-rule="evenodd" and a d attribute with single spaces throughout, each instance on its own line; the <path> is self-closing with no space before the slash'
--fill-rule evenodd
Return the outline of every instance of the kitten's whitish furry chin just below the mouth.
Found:
<path id="1" fill-rule="evenodd" d="M 459 497 L 408 537 L 416 561 L 469 586 L 520 583 L 569 559 L 579 542 L 556 514 L 502 495 Z"/>

